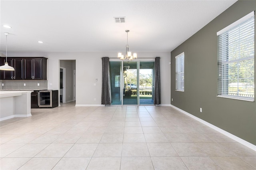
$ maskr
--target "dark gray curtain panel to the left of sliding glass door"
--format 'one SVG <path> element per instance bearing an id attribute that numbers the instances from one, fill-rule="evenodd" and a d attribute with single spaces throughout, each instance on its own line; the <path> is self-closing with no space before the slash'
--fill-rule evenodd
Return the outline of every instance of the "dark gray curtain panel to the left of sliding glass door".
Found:
<path id="1" fill-rule="evenodd" d="M 111 105 L 109 57 L 102 57 L 101 104 Z"/>

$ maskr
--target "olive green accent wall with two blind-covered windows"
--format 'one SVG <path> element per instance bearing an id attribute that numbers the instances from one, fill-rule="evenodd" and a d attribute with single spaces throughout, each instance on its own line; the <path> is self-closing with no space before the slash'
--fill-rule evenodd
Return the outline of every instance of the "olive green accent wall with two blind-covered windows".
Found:
<path id="1" fill-rule="evenodd" d="M 216 97 L 218 84 L 216 33 L 255 10 L 256 0 L 238 0 L 171 52 L 171 98 L 173 99 L 171 104 L 254 145 L 256 145 L 256 102 Z M 254 33 L 256 33 L 255 28 L 254 26 Z M 254 42 L 256 42 L 255 37 Z M 185 53 L 184 92 L 175 91 L 175 56 L 182 52 Z M 254 56 L 254 65 L 255 63 Z M 256 83 L 255 78 L 254 83 Z M 255 89 L 254 94 L 256 94 Z"/>

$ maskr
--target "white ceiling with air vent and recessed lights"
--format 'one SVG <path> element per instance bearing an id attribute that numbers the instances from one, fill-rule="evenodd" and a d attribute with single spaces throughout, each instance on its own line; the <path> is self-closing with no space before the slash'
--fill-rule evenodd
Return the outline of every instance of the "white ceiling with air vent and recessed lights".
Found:
<path id="1" fill-rule="evenodd" d="M 170 52 L 236 0 L 1 0 L 0 50 Z M 126 17 L 115 23 L 114 17 Z M 9 25 L 12 28 L 4 28 Z M 44 43 L 38 43 L 42 41 Z"/>

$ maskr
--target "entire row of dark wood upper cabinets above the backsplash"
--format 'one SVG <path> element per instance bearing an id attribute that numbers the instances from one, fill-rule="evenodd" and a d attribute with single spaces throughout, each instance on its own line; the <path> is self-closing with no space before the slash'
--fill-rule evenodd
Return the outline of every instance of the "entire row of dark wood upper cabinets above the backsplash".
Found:
<path id="1" fill-rule="evenodd" d="M 1 57 L 1 65 L 6 58 Z M 47 58 L 45 57 L 8 57 L 7 62 L 14 71 L 0 71 L 4 80 L 47 80 Z"/>

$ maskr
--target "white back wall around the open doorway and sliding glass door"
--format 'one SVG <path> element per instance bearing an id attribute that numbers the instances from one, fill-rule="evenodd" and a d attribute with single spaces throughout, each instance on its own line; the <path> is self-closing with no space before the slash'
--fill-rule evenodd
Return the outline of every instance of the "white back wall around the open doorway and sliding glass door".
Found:
<path id="1" fill-rule="evenodd" d="M 58 90 L 59 60 L 76 60 L 76 104 L 100 105 L 102 83 L 101 57 L 115 58 L 117 52 L 9 52 L 14 57 L 47 57 L 48 89 Z M 138 52 L 140 58 L 161 57 L 161 104 L 170 105 L 170 53 Z M 119 60 L 117 60 L 119 61 Z M 98 81 L 96 81 L 98 79 Z M 52 85 L 50 86 L 50 83 Z M 94 86 L 96 83 L 96 86 Z M 96 101 L 94 101 L 96 99 Z"/>

